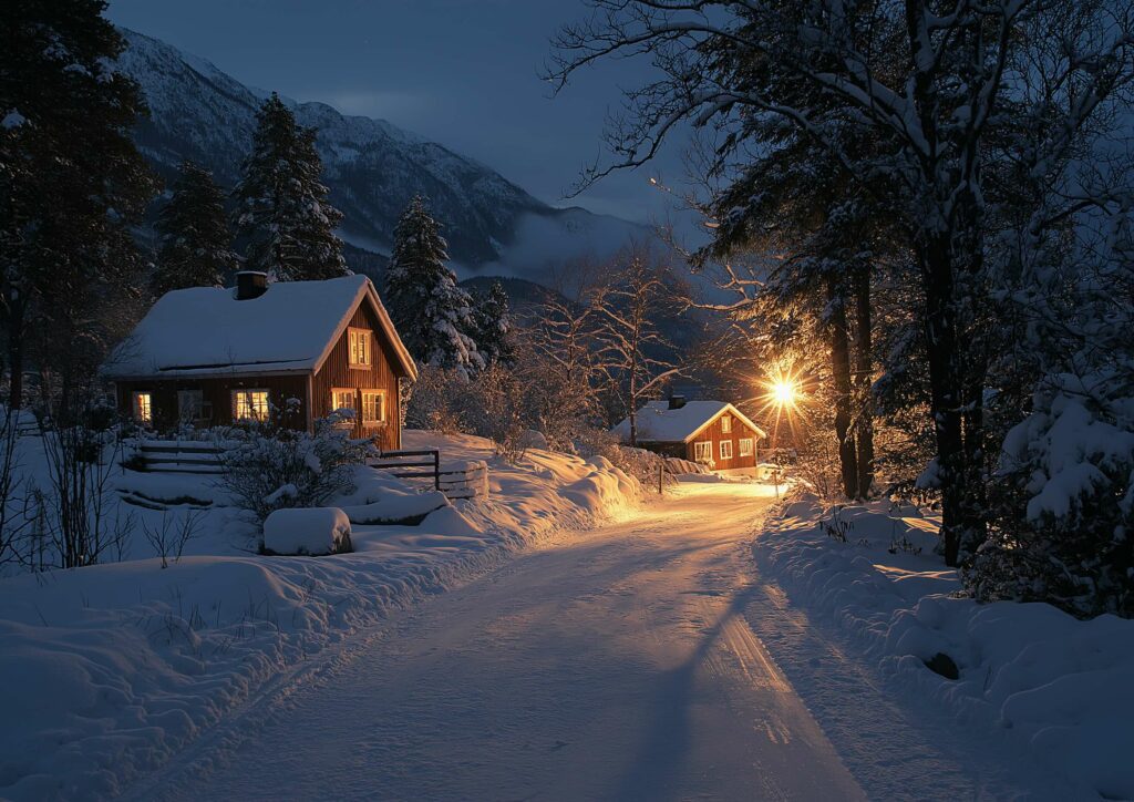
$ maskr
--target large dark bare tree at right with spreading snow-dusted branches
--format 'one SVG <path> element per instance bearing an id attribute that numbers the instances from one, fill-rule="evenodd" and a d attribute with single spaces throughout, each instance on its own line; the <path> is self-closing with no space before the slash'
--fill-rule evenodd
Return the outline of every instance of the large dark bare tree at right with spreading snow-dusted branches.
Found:
<path id="1" fill-rule="evenodd" d="M 1080 135 L 1134 82 L 1134 10 L 1125 0 L 591 6 L 587 22 L 558 37 L 550 77 L 561 85 L 595 60 L 642 53 L 663 75 L 629 93 L 629 115 L 610 135 L 613 163 L 595 166 L 584 181 L 645 163 L 686 120 L 726 129 L 723 147 L 737 153 L 753 144 L 745 118 L 768 116 L 812 137 L 850 175 L 885 171 L 895 180 L 919 268 L 945 558 L 956 565 L 987 532 L 991 166 L 1014 163 L 1039 197 L 1069 188 L 1067 158 Z M 1038 37 L 1059 48 L 1040 53 Z M 1031 92 L 1026 78 L 1034 75 L 1051 92 Z M 888 143 L 873 171 L 848 162 L 819 124 L 830 105 Z M 1015 137 L 1004 127 L 1009 110 Z M 1021 242 L 1050 228 L 1051 212 L 1049 204 L 1033 205 Z"/>

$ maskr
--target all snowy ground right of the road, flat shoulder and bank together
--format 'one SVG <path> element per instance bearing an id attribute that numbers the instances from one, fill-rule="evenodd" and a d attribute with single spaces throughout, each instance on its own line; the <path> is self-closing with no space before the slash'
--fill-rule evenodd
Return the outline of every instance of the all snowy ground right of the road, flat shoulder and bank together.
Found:
<path id="1" fill-rule="evenodd" d="M 1001 755 L 1002 767 L 1026 770 L 966 777 L 945 761 L 942 792 L 1134 799 L 1134 622 L 950 598 L 956 572 L 931 554 L 939 521 L 913 507 L 833 510 L 799 497 L 769 524 L 755 557 L 775 581 L 776 624 L 756 630 L 863 776 L 890 767 L 900 776 L 920 765 L 930 742 L 958 754 L 975 745 Z M 955 661 L 958 678 L 926 667 L 939 652 Z M 863 685 L 882 691 L 882 708 L 855 699 Z M 903 720 L 914 725 L 912 740 L 895 741 L 895 721 Z M 886 793 L 871 795 L 900 786 L 878 791 Z"/>

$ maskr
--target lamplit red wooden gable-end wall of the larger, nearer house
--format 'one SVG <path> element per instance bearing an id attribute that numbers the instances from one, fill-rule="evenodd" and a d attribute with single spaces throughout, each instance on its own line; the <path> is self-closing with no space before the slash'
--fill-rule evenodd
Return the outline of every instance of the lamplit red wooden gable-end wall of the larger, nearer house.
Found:
<path id="1" fill-rule="evenodd" d="M 349 328 L 370 329 L 371 341 L 374 345 L 373 358 L 371 360 L 373 364 L 370 368 L 350 366 Z M 378 428 L 362 425 L 362 397 L 356 394 L 355 404 L 359 414 L 355 421 L 354 436 L 374 436 L 383 449 L 400 448 L 401 412 L 398 407 L 400 403 L 398 372 L 393 368 L 398 362 L 392 345 L 382 334 L 378 316 L 369 304 L 363 303 L 355 310 L 349 328 L 344 330 L 342 337 L 335 344 L 335 348 L 331 349 L 323 366 L 312 380 L 313 416 L 325 417 L 335 408 L 331 400 L 332 389 L 386 390 L 386 424 Z"/>

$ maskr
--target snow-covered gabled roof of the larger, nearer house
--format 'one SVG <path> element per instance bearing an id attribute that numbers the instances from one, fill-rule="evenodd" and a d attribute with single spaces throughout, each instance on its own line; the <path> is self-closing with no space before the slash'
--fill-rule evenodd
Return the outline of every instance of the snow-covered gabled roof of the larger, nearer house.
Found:
<path id="1" fill-rule="evenodd" d="M 365 276 L 277 281 L 256 298 L 192 287 L 166 293 L 111 354 L 112 379 L 318 371 L 359 303 L 371 304 L 405 374 L 413 358 Z"/>

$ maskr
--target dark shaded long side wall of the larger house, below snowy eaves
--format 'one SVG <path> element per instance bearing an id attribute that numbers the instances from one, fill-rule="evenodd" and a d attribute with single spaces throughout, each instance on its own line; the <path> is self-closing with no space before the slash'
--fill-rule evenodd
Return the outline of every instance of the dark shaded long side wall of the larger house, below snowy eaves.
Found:
<path id="1" fill-rule="evenodd" d="M 232 423 L 232 390 L 268 390 L 269 403 L 282 410 L 289 398 L 298 399 L 295 414 L 287 415 L 282 423 L 293 429 L 307 425 L 307 375 L 259 375 L 249 378 L 178 378 L 139 379 L 120 381 L 116 385 L 118 408 L 127 415 L 134 411 L 134 392 L 150 392 L 153 412 L 153 428 L 161 431 L 174 429 L 179 423 L 177 408 L 178 390 L 201 390 L 202 399 L 212 405 L 212 414 L 202 425 L 227 425 Z"/>

